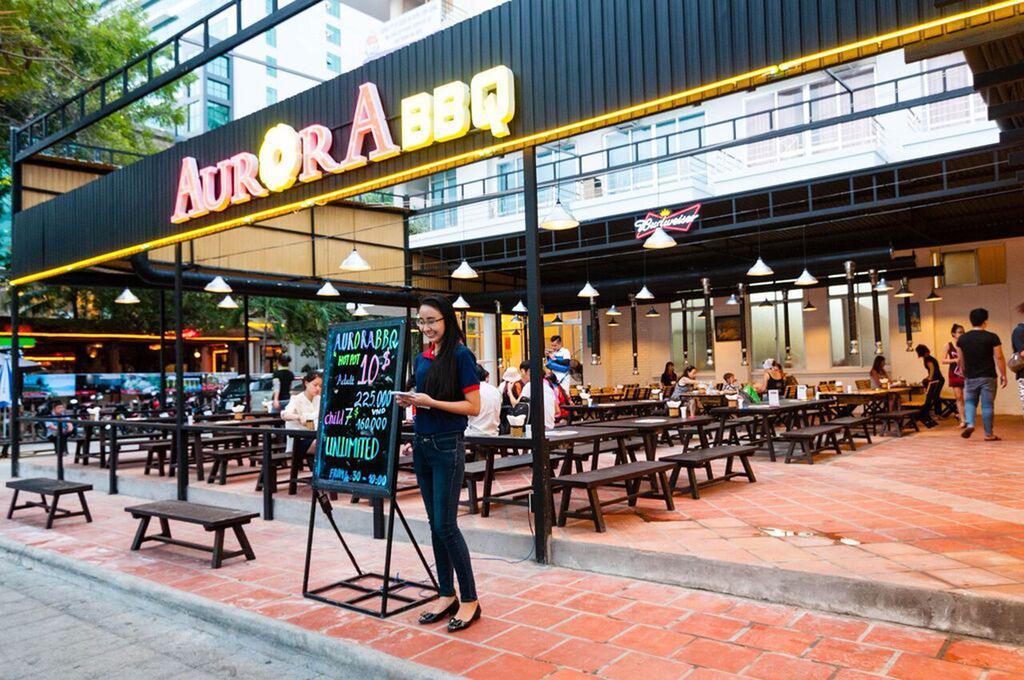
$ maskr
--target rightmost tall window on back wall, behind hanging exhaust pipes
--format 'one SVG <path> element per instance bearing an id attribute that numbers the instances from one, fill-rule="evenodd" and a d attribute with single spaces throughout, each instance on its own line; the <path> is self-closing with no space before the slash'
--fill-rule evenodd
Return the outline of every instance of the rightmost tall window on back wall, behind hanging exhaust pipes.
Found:
<path id="1" fill-rule="evenodd" d="M 850 353 L 850 327 L 847 314 L 846 286 L 828 287 L 828 336 L 831 345 L 833 366 L 869 367 L 874 360 L 874 322 L 871 313 L 871 286 L 857 284 L 856 301 L 857 340 L 860 351 Z M 879 293 L 879 328 L 882 336 L 882 353 L 889 353 L 889 296 Z"/>

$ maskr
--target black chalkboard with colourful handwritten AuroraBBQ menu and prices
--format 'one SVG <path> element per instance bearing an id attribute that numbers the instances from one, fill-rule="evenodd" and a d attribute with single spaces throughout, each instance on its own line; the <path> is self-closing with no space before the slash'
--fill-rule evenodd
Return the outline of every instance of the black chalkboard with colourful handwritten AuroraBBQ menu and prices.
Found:
<path id="1" fill-rule="evenodd" d="M 406 320 L 332 326 L 328 332 L 313 486 L 394 496 L 398 425 L 391 390 L 406 375 Z"/>

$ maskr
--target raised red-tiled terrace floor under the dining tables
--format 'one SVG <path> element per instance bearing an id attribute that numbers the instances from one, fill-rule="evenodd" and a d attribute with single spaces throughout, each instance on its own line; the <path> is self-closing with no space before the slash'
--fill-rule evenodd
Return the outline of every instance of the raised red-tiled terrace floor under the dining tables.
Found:
<path id="1" fill-rule="evenodd" d="M 984 442 L 980 435 L 965 441 L 947 422 L 901 439 L 878 437 L 872 447 L 858 443 L 842 456 L 820 456 L 813 466 L 758 457 L 756 484 L 734 480 L 705 490 L 699 501 L 677 496 L 674 512 L 649 500 L 637 510 L 615 506 L 607 511 L 606 534 L 595 534 L 589 521 L 569 520 L 554 537 L 1024 598 L 1024 424 L 1000 418 L 997 431 L 1004 441 Z M 676 449 L 663 447 L 658 454 Z M 126 467 L 123 473 L 141 470 Z M 527 484 L 525 475 L 504 473 L 497 487 Z M 228 488 L 252 495 L 253 484 L 253 477 L 242 477 Z M 300 494 L 308 498 L 307 490 Z M 424 516 L 415 491 L 403 498 L 408 515 Z M 464 515 L 461 521 L 529 532 L 519 507 L 497 506 L 489 517 Z"/>

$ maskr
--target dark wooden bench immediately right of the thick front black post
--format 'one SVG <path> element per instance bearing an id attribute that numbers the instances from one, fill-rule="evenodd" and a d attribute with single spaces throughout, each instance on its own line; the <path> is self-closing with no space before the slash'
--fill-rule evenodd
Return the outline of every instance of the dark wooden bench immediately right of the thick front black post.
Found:
<path id="1" fill-rule="evenodd" d="M 603 533 L 605 529 L 604 513 L 601 509 L 604 506 L 615 505 L 626 501 L 630 507 L 634 507 L 637 504 L 637 499 L 641 496 L 662 499 L 669 510 L 675 510 L 676 507 L 672 501 L 672 487 L 669 486 L 667 476 L 674 468 L 675 465 L 672 463 L 639 461 L 555 477 L 551 480 L 552 493 L 559 488 L 562 492 L 561 508 L 558 511 L 558 525 L 565 526 L 565 519 L 568 517 L 592 519 L 594 520 L 594 528 L 598 533 Z M 644 478 L 650 481 L 650 492 L 640 492 L 640 483 Z M 626 482 L 626 496 L 621 496 L 610 501 L 602 501 L 598 497 L 598 488 L 601 486 L 610 486 L 620 481 Z M 657 491 L 659 487 L 660 493 Z M 585 488 L 587 491 L 589 509 L 569 511 L 569 500 L 571 499 L 573 488 Z"/>

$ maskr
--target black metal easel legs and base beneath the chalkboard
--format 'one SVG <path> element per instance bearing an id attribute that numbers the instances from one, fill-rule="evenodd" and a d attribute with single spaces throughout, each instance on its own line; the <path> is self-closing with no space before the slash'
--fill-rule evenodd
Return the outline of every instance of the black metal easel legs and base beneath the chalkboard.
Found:
<path id="1" fill-rule="evenodd" d="M 316 519 L 317 505 L 319 505 L 321 509 L 324 510 L 324 514 L 327 515 L 328 521 L 331 522 L 331 526 L 334 528 L 335 535 L 338 537 L 338 540 L 341 541 L 341 547 L 345 549 L 345 553 L 348 555 L 348 560 L 352 563 L 352 567 L 355 569 L 355 576 L 310 590 L 309 562 L 312 558 L 313 526 Z M 408 579 L 391 577 L 391 544 L 394 540 L 393 529 L 395 513 L 398 514 L 398 519 L 401 520 L 401 525 L 406 527 L 406 534 L 409 536 L 409 540 L 413 544 L 413 547 L 416 548 L 416 554 L 420 557 L 420 563 L 423 564 L 423 568 L 427 572 L 427 576 L 430 577 L 430 583 L 409 581 Z M 360 583 L 366 580 L 379 581 L 380 585 L 377 587 L 371 587 Z M 353 590 L 358 594 L 347 600 L 336 600 L 325 595 L 325 593 L 339 588 L 347 588 L 348 590 Z M 425 597 L 403 595 L 400 591 L 406 588 L 428 591 L 429 594 Z M 331 507 L 331 500 L 328 498 L 328 493 L 315 488 L 313 490 L 313 497 L 309 503 L 309 533 L 306 536 L 306 563 L 305 569 L 302 573 L 303 597 L 344 607 L 345 609 L 351 609 L 352 611 L 359 611 L 361 613 L 369 613 L 374 617 L 386 619 L 388 617 L 393 617 L 396 613 L 401 613 L 402 611 L 408 611 L 409 609 L 418 607 L 421 604 L 426 604 L 427 602 L 436 600 L 438 598 L 437 591 L 437 580 L 434 579 L 433 571 L 430 570 L 430 565 L 427 564 L 427 560 L 423 557 L 423 551 L 420 550 L 420 546 L 416 542 L 413 532 L 409 528 L 409 522 L 406 521 L 406 516 L 401 514 L 401 509 L 398 507 L 398 501 L 396 499 L 391 499 L 391 507 L 388 511 L 387 548 L 384 556 L 384 573 L 377 573 L 376 571 L 364 571 L 359 568 L 358 562 L 355 561 L 355 556 L 352 554 L 352 551 L 349 550 L 348 544 L 345 543 L 345 538 L 341 535 L 341 529 L 338 528 L 338 524 L 334 519 L 334 513 Z M 380 608 L 369 608 L 360 605 L 360 603 L 366 602 L 367 600 L 373 600 L 378 597 L 380 598 Z M 397 600 L 401 603 L 401 605 L 394 609 L 388 609 L 389 600 Z"/>

